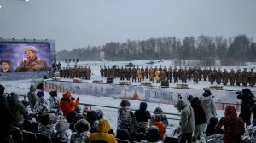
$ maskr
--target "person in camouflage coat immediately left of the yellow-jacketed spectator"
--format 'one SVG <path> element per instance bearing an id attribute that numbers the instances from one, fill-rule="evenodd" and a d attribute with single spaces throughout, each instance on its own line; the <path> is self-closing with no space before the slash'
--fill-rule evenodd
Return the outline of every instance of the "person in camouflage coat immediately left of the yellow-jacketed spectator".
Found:
<path id="1" fill-rule="evenodd" d="M 90 136 L 90 123 L 85 119 L 80 119 L 75 123 L 75 133 L 71 136 L 71 143 L 85 143 L 85 140 Z"/>

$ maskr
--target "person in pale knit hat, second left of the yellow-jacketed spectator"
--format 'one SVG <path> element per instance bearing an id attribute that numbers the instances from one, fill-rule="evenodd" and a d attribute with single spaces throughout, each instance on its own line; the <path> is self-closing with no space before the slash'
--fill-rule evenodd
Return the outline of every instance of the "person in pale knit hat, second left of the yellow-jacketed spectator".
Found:
<path id="1" fill-rule="evenodd" d="M 72 131 L 69 129 L 69 123 L 67 120 L 61 119 L 56 124 L 56 135 L 55 139 L 63 143 L 69 143 L 71 140 Z"/>

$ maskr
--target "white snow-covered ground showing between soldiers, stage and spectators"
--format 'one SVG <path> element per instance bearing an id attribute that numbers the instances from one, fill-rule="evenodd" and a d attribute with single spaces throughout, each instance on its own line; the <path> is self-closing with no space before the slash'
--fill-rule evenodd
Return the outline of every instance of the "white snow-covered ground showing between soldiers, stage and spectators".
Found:
<path id="1" fill-rule="evenodd" d="M 135 66 L 139 67 L 155 67 L 155 66 L 172 66 L 174 68 L 174 64 L 172 60 L 154 60 L 153 65 L 148 65 L 148 63 L 151 60 L 136 60 L 136 61 L 131 61 Z M 86 80 L 86 82 L 91 83 L 94 80 L 103 80 L 104 83 L 106 83 L 106 79 L 102 78 L 100 76 L 100 68 L 101 66 L 125 66 L 128 64 L 128 61 L 96 61 L 96 62 L 79 62 L 78 66 L 90 66 L 92 70 L 92 76 L 90 80 Z M 73 66 L 74 63 L 70 63 L 69 66 Z M 61 67 L 67 67 L 67 63 L 61 62 Z M 216 67 L 221 68 L 222 70 L 225 68 L 230 71 L 230 69 L 243 69 L 244 67 L 247 67 L 247 69 L 254 68 L 256 67 L 255 65 L 249 65 L 249 66 L 218 66 Z M 179 67 L 177 67 L 179 68 Z M 62 79 L 63 81 L 71 81 L 71 79 Z M 5 92 L 10 93 L 10 92 L 15 92 L 17 94 L 27 94 L 29 91 L 30 85 L 33 83 L 34 79 L 30 80 L 18 80 L 18 81 L 0 81 L 3 86 L 5 86 Z M 119 83 L 119 79 L 114 79 L 114 83 Z M 131 83 L 131 85 L 140 85 L 140 83 Z M 203 89 L 205 87 L 210 86 L 210 83 L 208 81 L 200 81 L 198 84 L 194 84 L 192 81 L 188 82 L 189 88 L 191 89 Z M 153 83 L 153 86 L 160 86 L 160 83 Z M 175 87 L 174 83 L 170 83 L 171 87 Z M 224 86 L 224 90 L 241 90 L 243 87 L 230 87 L 230 86 Z M 252 91 L 255 91 L 256 88 L 251 88 Z M 203 93 L 203 90 L 202 90 Z M 49 92 L 44 92 L 45 97 L 49 98 Z M 78 95 L 73 94 L 74 97 L 77 97 Z M 58 93 L 58 97 L 61 98 L 62 94 Z M 86 104 L 94 104 L 94 105 L 101 105 L 101 106 L 115 106 L 119 107 L 119 103 L 121 99 L 113 99 L 113 98 L 108 98 L 108 97 L 96 97 L 96 96 L 90 96 L 90 95 L 79 95 L 80 97 L 80 102 L 81 103 L 86 103 Z M 20 99 L 22 100 L 22 99 Z M 130 100 L 131 101 L 131 109 L 137 109 L 139 108 L 140 101 L 139 100 Z M 173 105 L 168 105 L 168 104 L 160 104 L 160 103 L 148 103 L 148 110 L 149 111 L 154 111 L 154 109 L 160 106 L 164 112 L 170 112 L 170 113 L 179 113 L 177 109 Z M 83 108 L 83 106 L 81 106 Z M 104 117 L 108 119 L 109 123 L 111 124 L 111 127 L 113 130 L 116 130 L 116 123 L 117 123 L 117 110 L 113 108 L 102 108 L 102 107 L 97 107 L 97 106 L 92 106 L 93 110 L 96 109 L 101 109 L 104 112 Z M 218 110 L 218 117 L 224 116 L 224 111 L 223 110 Z M 171 117 L 171 116 L 168 116 Z M 172 116 L 173 118 L 179 118 L 177 116 Z M 170 125 L 173 125 L 177 127 L 178 121 L 177 120 L 170 120 L 169 121 Z M 167 132 L 168 133 L 168 132 Z"/>

